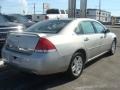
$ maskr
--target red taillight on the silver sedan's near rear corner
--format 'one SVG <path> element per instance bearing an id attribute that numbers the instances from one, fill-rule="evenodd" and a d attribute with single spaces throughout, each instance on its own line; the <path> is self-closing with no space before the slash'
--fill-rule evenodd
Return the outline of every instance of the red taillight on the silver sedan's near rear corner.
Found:
<path id="1" fill-rule="evenodd" d="M 52 51 L 56 51 L 56 48 L 48 39 L 40 38 L 35 47 L 35 51 L 37 51 L 37 52 L 52 52 Z"/>

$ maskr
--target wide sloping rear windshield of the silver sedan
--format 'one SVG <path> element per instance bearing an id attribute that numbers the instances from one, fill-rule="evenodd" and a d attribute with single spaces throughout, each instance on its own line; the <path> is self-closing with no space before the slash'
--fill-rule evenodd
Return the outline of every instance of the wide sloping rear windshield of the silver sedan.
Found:
<path id="1" fill-rule="evenodd" d="M 46 20 L 41 21 L 26 30 L 26 32 L 35 33 L 58 33 L 61 31 L 71 20 Z"/>

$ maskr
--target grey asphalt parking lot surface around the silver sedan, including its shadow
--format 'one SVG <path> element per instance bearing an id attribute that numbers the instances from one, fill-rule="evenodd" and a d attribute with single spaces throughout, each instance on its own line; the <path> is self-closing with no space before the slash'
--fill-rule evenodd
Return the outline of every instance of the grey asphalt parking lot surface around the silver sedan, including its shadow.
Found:
<path id="1" fill-rule="evenodd" d="M 64 74 L 25 74 L 2 65 L 0 90 L 120 90 L 120 28 L 109 28 L 118 37 L 116 54 L 89 62 L 78 79 L 70 80 Z"/>

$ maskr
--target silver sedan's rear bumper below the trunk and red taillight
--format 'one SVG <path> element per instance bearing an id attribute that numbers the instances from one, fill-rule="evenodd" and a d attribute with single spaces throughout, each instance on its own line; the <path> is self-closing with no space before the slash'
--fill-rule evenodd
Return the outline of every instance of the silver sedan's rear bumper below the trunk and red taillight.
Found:
<path id="1" fill-rule="evenodd" d="M 5 49 L 3 49 L 2 57 L 7 65 L 40 75 L 66 71 L 69 60 L 69 56 L 60 56 L 58 52 L 24 55 Z"/>

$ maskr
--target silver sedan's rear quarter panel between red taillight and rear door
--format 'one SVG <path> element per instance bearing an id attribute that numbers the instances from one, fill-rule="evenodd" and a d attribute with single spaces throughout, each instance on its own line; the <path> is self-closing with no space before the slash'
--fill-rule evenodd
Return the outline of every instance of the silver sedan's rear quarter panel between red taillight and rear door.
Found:
<path id="1" fill-rule="evenodd" d="M 62 62 L 68 67 L 73 54 L 79 49 L 85 49 L 83 39 L 76 35 L 57 35 L 48 38 L 54 43 L 57 52 L 64 58 Z"/>

